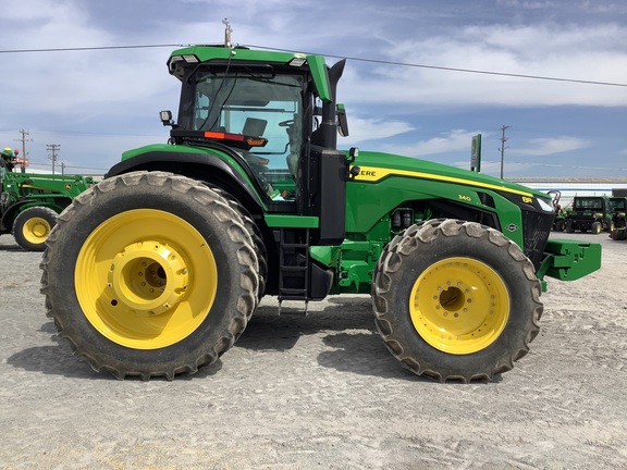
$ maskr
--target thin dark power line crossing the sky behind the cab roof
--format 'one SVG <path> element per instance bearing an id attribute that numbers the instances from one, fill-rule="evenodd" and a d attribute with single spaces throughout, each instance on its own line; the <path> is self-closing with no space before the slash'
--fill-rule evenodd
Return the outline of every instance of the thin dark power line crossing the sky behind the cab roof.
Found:
<path id="1" fill-rule="evenodd" d="M 94 51 L 94 50 L 147 49 L 147 48 L 187 47 L 187 46 L 193 46 L 193 45 L 162 44 L 162 45 L 133 45 L 133 46 L 69 47 L 69 48 L 49 48 L 49 49 L 5 49 L 5 50 L 0 50 L 0 53 L 77 52 L 77 51 Z M 318 55 L 324 55 L 324 57 L 333 58 L 333 59 L 346 59 L 346 60 L 352 60 L 355 62 L 368 62 L 368 63 L 377 63 L 377 64 L 382 64 L 382 65 L 395 65 L 395 66 L 407 66 L 407 67 L 415 67 L 415 69 L 439 70 L 439 71 L 446 71 L 446 72 L 472 73 L 472 74 L 493 75 L 493 76 L 506 76 L 506 77 L 512 77 L 512 78 L 527 78 L 527 79 L 539 79 L 539 81 L 563 82 L 563 83 L 566 82 L 566 83 L 575 83 L 575 84 L 583 84 L 583 85 L 627 87 L 627 84 L 616 83 L 616 82 L 599 82 L 599 81 L 587 81 L 587 79 L 578 79 L 578 78 L 552 77 L 552 76 L 544 76 L 544 75 L 528 75 L 528 74 L 515 74 L 515 73 L 507 73 L 507 72 L 494 72 L 494 71 L 485 71 L 485 70 L 477 70 L 477 69 L 447 67 L 447 66 L 428 65 L 428 64 L 419 64 L 419 63 L 410 63 L 410 62 L 395 62 L 395 61 L 385 61 L 385 60 L 367 59 L 367 58 L 358 58 L 358 57 L 325 54 L 325 53 L 319 53 L 319 52 L 306 52 L 306 51 L 279 49 L 279 48 L 271 48 L 271 47 L 267 47 L 267 46 L 256 46 L 256 45 L 242 45 L 242 46 L 250 47 L 250 48 L 258 48 L 258 49 L 266 49 L 266 50 L 273 50 L 273 51 L 282 51 L 282 52 L 318 54 Z"/>

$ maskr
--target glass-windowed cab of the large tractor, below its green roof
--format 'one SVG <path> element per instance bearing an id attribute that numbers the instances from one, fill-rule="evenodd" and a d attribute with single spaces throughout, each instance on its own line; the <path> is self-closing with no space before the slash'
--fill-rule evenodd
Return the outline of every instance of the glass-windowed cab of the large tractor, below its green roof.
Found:
<path id="1" fill-rule="evenodd" d="M 233 149 L 268 202 L 294 200 L 306 138 L 303 116 L 311 116 L 307 77 L 233 62 L 188 71 L 172 137 Z"/>

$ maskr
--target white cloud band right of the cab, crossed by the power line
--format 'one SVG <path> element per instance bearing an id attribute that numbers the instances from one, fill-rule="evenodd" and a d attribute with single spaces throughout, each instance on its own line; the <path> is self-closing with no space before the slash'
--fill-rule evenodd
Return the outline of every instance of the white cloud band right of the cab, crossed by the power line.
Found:
<path id="1" fill-rule="evenodd" d="M 393 62 L 627 84 L 627 52 L 619 46 L 625 42 L 627 27 L 617 24 L 488 25 L 407 39 L 394 48 L 385 44 L 385 48 Z M 397 65 L 349 65 L 359 67 L 359 72 L 349 67 L 347 88 L 352 100 L 445 107 L 627 106 L 625 87 L 618 86 Z M 364 73 L 368 66 L 369 73 Z"/>

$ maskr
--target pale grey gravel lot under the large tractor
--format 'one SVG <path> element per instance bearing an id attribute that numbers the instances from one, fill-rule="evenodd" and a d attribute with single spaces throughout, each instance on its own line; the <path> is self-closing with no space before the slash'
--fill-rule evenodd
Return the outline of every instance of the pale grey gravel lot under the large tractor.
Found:
<path id="1" fill-rule="evenodd" d="M 58 344 L 40 255 L 0 237 L 0 468 L 613 469 L 627 466 L 627 243 L 550 281 L 531 352 L 495 383 L 405 371 L 368 296 L 265 299 L 222 361 L 120 382 Z"/>

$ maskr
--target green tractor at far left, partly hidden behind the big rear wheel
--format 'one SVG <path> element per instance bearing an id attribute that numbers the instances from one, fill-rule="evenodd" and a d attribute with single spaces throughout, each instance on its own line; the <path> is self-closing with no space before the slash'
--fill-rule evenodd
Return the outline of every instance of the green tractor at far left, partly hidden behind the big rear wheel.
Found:
<path id="1" fill-rule="evenodd" d="M 94 178 L 81 175 L 48 175 L 13 172 L 10 148 L 0 158 L 0 235 L 13 234 L 28 251 L 44 251 L 57 217 Z"/>

